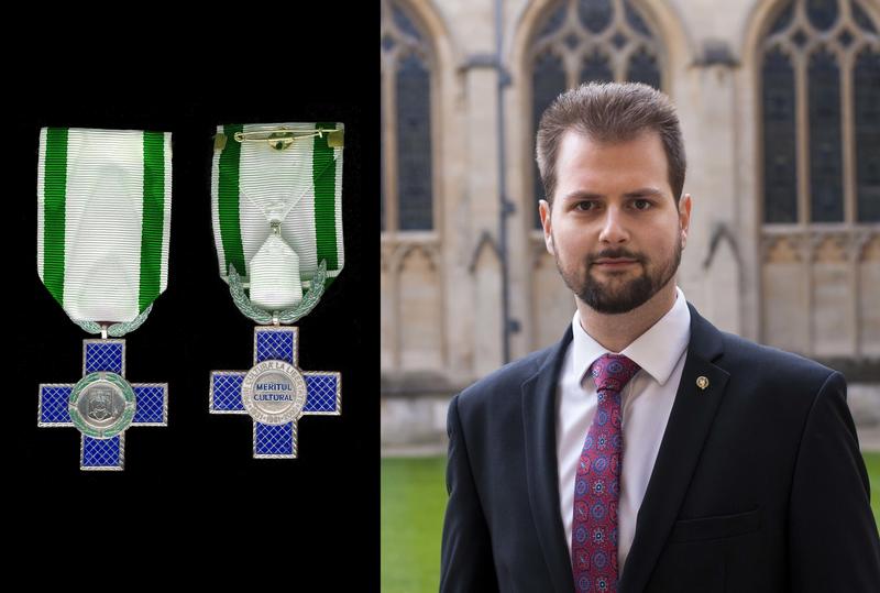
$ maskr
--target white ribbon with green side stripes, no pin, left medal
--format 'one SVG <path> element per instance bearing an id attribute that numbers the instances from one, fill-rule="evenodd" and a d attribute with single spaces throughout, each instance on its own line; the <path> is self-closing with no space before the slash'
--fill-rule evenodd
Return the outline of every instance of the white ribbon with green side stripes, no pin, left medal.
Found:
<path id="1" fill-rule="evenodd" d="M 43 128 L 40 278 L 78 323 L 128 322 L 168 282 L 170 133 Z"/>

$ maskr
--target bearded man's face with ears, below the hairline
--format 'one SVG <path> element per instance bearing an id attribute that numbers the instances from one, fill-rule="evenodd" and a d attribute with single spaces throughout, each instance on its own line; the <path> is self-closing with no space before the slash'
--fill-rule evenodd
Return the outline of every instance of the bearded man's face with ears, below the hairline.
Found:
<path id="1" fill-rule="evenodd" d="M 598 143 L 568 131 L 553 206 L 541 201 L 547 250 L 568 287 L 592 309 L 639 307 L 675 275 L 688 235 L 690 196 L 676 208 L 660 135 Z"/>

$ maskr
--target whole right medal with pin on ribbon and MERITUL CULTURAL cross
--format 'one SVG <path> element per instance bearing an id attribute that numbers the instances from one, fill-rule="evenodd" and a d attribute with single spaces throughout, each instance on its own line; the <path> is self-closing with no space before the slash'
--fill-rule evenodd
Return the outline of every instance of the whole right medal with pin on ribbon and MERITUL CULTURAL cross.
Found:
<path id="1" fill-rule="evenodd" d="M 299 330 L 342 271 L 341 123 L 221 125 L 211 210 L 220 275 L 257 323 L 250 371 L 213 371 L 211 414 L 246 414 L 253 455 L 297 457 L 297 422 L 341 413 L 341 376 L 301 371 Z"/>

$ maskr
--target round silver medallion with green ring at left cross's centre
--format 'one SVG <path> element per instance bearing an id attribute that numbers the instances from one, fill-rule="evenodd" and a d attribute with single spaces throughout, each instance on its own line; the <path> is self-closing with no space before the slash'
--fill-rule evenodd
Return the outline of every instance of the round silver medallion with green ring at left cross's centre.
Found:
<path id="1" fill-rule="evenodd" d="M 67 409 L 80 432 L 109 439 L 131 426 L 136 409 L 134 389 L 116 373 L 91 373 L 74 385 Z"/>

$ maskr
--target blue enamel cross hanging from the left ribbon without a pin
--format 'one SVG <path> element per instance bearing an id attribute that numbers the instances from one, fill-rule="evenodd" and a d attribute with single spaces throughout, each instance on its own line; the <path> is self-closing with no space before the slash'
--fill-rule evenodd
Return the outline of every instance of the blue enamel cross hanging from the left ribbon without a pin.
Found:
<path id="1" fill-rule="evenodd" d="M 125 376 L 125 340 L 82 340 L 82 375 L 77 384 L 50 383 L 40 385 L 40 410 L 37 425 L 41 427 L 76 427 L 80 430 L 80 470 L 122 470 L 125 464 L 125 429 L 131 426 L 167 426 L 168 385 L 167 383 L 129 384 Z M 112 387 L 92 385 L 90 400 L 91 419 L 86 425 L 77 424 L 79 410 L 76 396 L 86 392 L 89 383 L 121 385 L 117 393 L 133 393 L 133 417 L 120 414 L 114 435 L 109 438 L 89 436 L 90 425 L 112 420 Z M 131 403 L 130 403 L 131 404 Z M 84 404 L 85 406 L 86 404 Z M 86 409 L 84 407 L 84 409 Z M 72 411 L 74 416 L 72 416 Z M 97 420 L 96 420 L 97 418 Z"/>

